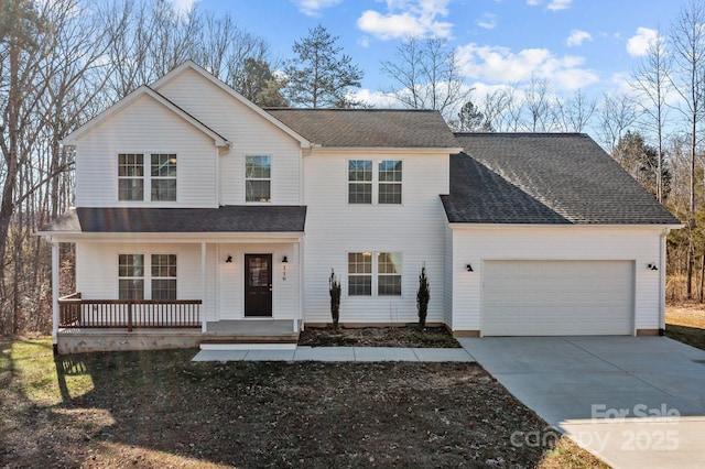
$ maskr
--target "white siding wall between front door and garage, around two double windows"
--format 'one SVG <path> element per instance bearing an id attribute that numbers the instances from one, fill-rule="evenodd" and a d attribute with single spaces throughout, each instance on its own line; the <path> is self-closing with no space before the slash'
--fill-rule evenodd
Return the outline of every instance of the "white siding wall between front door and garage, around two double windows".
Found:
<path id="1" fill-rule="evenodd" d="M 427 321 L 443 323 L 445 216 L 440 195 L 448 190 L 448 155 L 405 153 L 403 184 L 413 190 L 404 192 L 403 205 L 367 205 L 348 203 L 349 161 L 370 160 L 377 170 L 379 161 L 400 159 L 384 152 L 350 153 L 316 151 L 304 157 L 306 321 L 330 323 L 327 279 L 333 269 L 344 292 L 341 323 L 416 323 L 415 294 L 425 263 L 431 283 Z M 401 295 L 379 295 L 375 284 L 371 296 L 347 295 L 351 252 L 403 253 Z"/>

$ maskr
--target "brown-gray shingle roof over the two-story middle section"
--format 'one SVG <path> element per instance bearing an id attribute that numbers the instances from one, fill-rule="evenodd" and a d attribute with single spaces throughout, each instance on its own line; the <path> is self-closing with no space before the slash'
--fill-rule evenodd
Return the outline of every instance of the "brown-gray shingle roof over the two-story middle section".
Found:
<path id="1" fill-rule="evenodd" d="M 458 148 L 437 111 L 265 109 L 310 142 L 334 148 Z"/>

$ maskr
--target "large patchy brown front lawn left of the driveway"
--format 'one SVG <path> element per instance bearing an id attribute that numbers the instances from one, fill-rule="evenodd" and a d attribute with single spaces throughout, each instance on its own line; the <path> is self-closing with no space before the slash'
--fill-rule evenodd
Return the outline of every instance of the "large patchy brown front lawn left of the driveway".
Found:
<path id="1" fill-rule="evenodd" d="M 476 364 L 194 363 L 0 342 L 1 467 L 605 467 Z"/>

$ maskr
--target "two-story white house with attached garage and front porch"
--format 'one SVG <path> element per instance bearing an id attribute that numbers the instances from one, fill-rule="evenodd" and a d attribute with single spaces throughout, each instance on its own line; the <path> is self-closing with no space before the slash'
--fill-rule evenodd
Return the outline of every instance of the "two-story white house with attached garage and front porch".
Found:
<path id="1" fill-rule="evenodd" d="M 414 323 L 422 266 L 427 323 L 456 335 L 663 328 L 680 223 L 583 134 L 261 109 L 187 62 L 63 143 L 76 208 L 40 232 L 54 285 L 57 243 L 76 246 L 59 351 L 295 340 L 330 323 L 333 272 L 343 324 Z"/>

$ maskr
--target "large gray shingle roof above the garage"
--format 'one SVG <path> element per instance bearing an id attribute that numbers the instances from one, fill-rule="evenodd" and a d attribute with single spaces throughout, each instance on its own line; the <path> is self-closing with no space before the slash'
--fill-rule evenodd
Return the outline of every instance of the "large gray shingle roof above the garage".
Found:
<path id="1" fill-rule="evenodd" d="M 680 225 L 586 134 L 458 133 L 451 222 Z"/>

